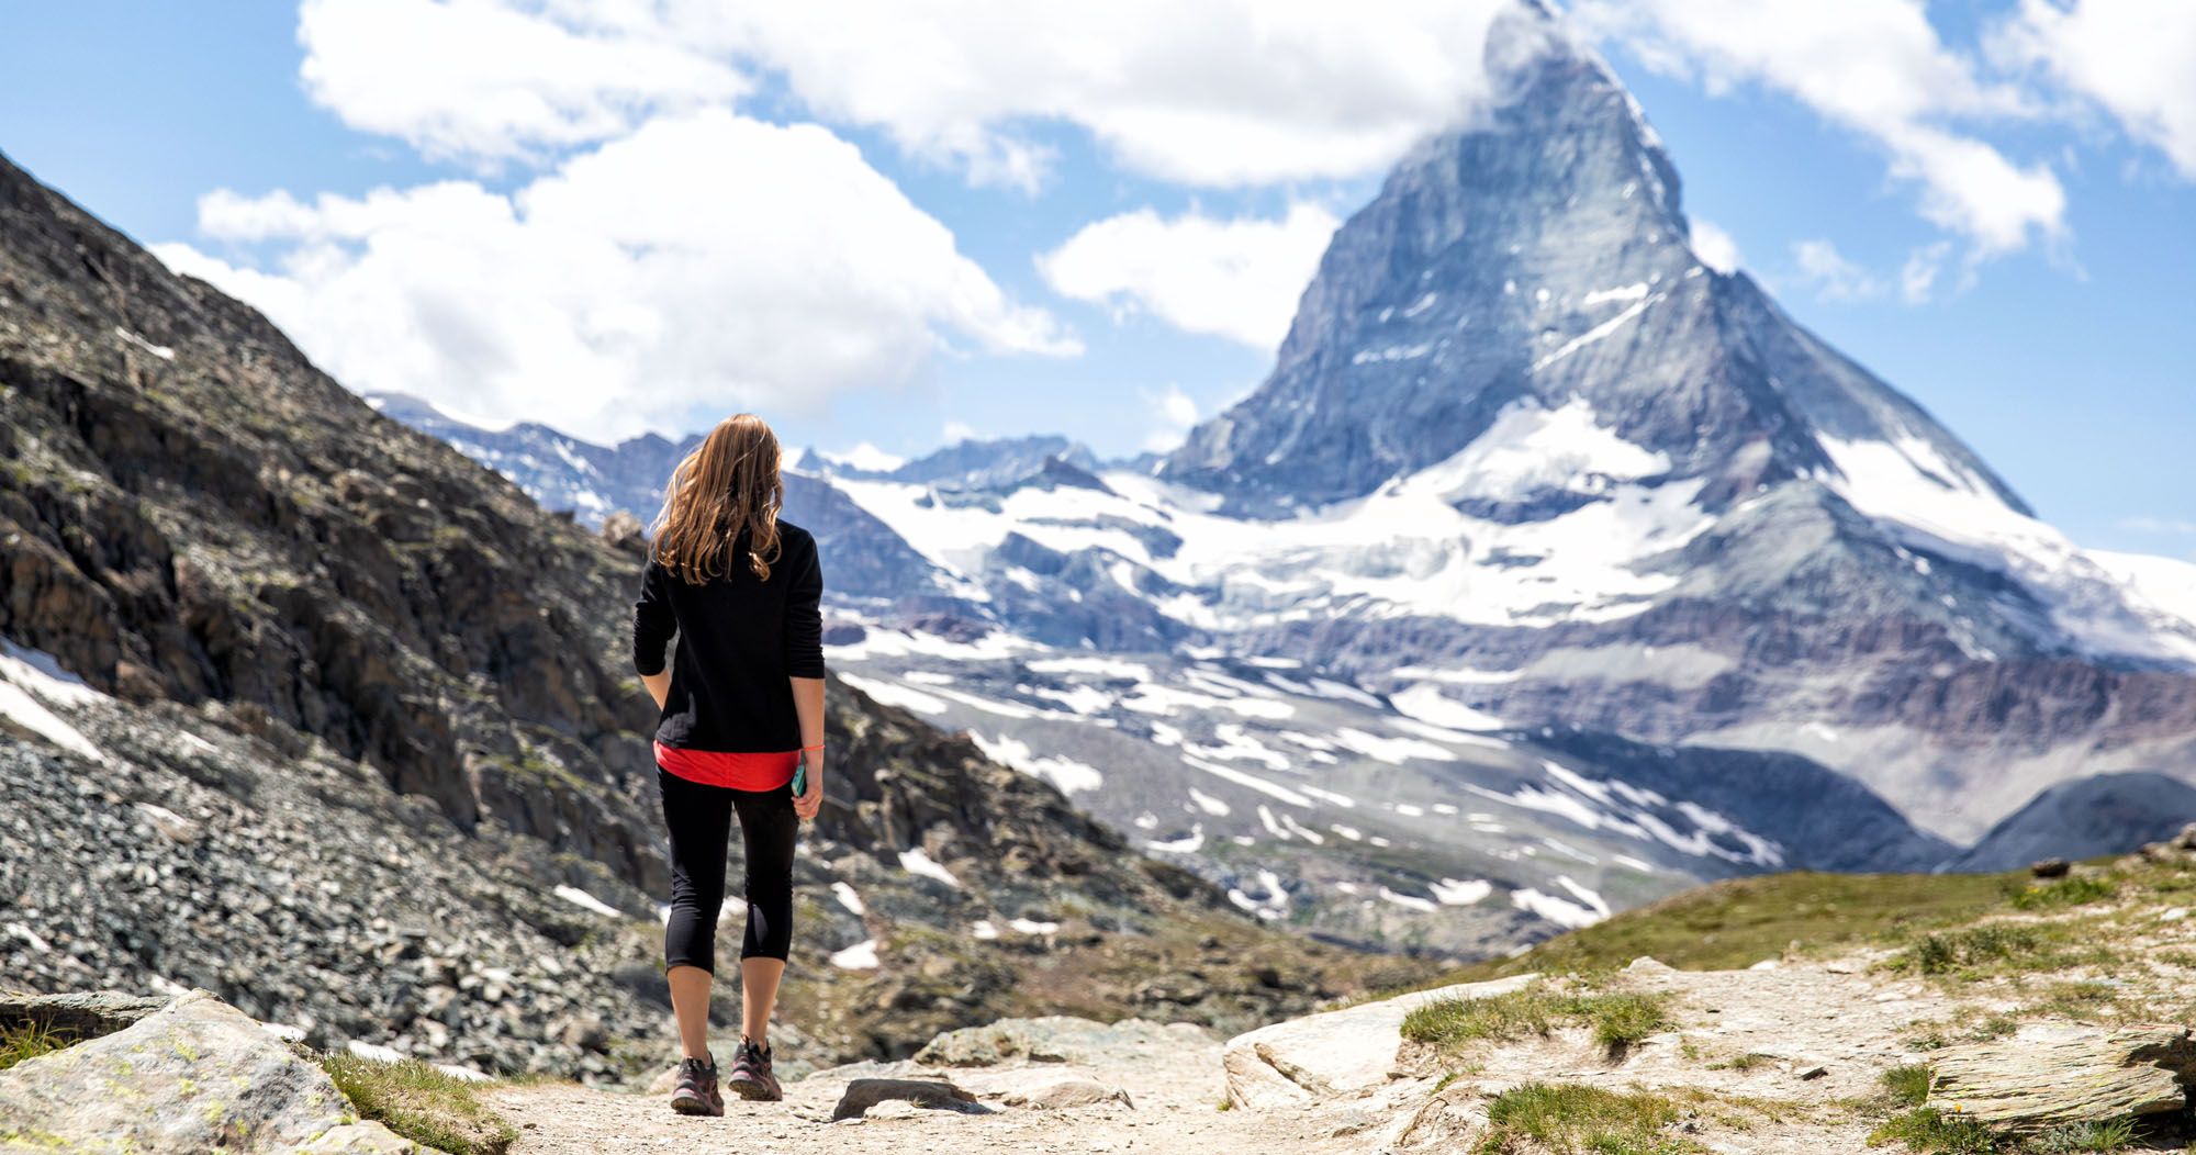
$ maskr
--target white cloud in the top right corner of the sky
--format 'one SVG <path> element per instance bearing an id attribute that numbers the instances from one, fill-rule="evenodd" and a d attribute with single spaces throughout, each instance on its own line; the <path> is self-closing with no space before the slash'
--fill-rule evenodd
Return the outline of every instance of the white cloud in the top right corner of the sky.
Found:
<path id="1" fill-rule="evenodd" d="M 2196 4 L 2023 0 L 1994 31 L 1992 51 L 2097 101 L 2196 180 Z"/>

